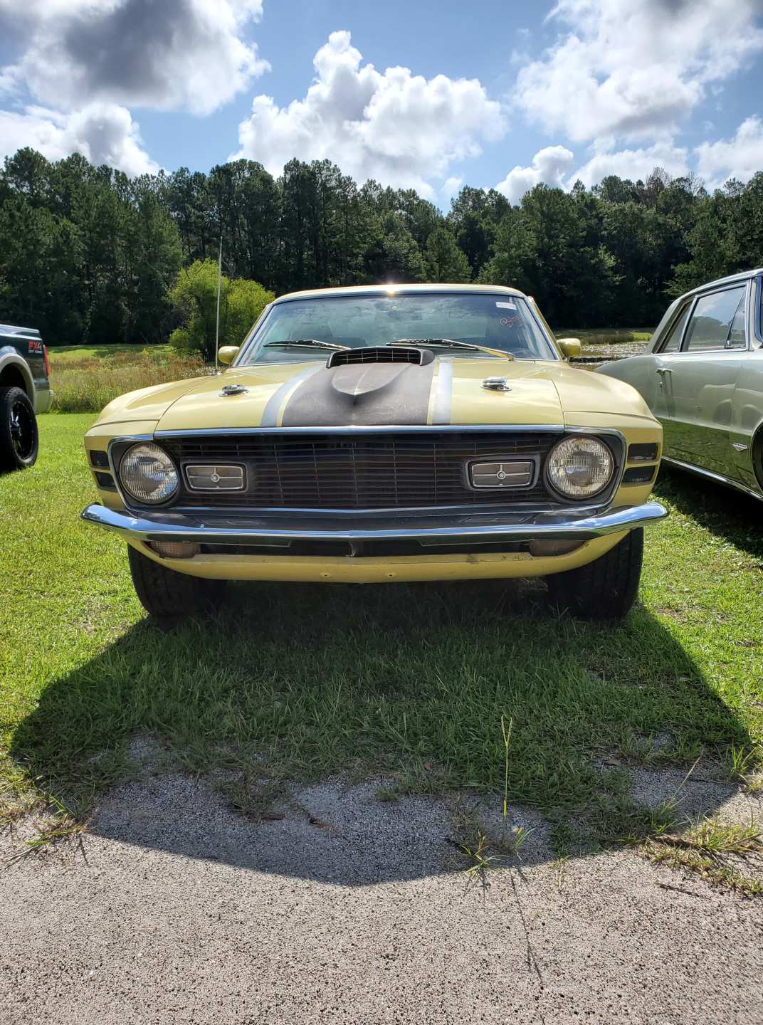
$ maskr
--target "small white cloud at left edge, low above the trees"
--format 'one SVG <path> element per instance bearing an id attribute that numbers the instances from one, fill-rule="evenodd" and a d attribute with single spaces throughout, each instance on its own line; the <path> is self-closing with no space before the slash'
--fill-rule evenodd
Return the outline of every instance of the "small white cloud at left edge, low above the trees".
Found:
<path id="1" fill-rule="evenodd" d="M 0 158 L 23 147 L 48 160 L 81 153 L 90 163 L 118 167 L 130 177 L 159 170 L 140 146 L 130 112 L 116 104 L 88 104 L 72 114 L 41 107 L 0 111 Z"/>

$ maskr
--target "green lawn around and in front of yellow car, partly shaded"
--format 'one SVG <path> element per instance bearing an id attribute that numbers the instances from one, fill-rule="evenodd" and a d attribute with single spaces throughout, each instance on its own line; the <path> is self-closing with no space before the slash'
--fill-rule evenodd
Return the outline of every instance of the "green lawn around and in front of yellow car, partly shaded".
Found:
<path id="1" fill-rule="evenodd" d="M 553 618 L 537 582 L 262 583 L 163 632 L 138 605 L 124 545 L 79 521 L 92 419 L 41 417 L 37 465 L 0 478 L 7 817 L 35 792 L 80 812 L 129 774 L 137 731 L 194 771 L 375 772 L 400 793 L 503 794 L 511 717 L 507 799 L 549 814 L 560 850 L 567 819 L 598 838 L 653 828 L 630 804 L 630 762 L 760 764 L 759 505 L 661 482 L 672 517 L 648 532 L 643 604 L 621 625 Z"/>

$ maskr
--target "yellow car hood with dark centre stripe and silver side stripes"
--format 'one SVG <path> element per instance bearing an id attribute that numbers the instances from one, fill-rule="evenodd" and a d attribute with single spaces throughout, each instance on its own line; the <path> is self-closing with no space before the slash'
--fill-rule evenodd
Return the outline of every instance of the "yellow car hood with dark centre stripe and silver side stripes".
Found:
<path id="1" fill-rule="evenodd" d="M 488 377 L 506 378 L 507 389 L 486 388 Z M 223 394 L 231 386 L 237 394 Z M 423 366 L 329 368 L 310 360 L 233 367 L 220 376 L 131 393 L 104 411 L 110 420 L 156 420 L 159 430 L 564 424 L 580 412 L 650 417 L 629 385 L 566 363 L 450 356 Z"/>

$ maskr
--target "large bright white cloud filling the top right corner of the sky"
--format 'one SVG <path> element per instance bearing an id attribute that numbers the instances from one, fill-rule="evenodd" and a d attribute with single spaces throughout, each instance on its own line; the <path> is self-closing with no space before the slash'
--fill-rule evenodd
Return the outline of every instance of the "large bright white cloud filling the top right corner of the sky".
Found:
<path id="1" fill-rule="evenodd" d="M 666 132 L 763 48 L 757 0 L 559 0 L 515 102 L 574 141 Z"/>

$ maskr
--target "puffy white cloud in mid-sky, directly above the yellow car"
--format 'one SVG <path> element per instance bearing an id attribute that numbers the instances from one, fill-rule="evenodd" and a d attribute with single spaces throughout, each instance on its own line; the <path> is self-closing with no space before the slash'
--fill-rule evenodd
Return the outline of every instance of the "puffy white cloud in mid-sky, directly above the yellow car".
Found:
<path id="1" fill-rule="evenodd" d="M 358 180 L 373 177 L 431 198 L 431 182 L 445 178 L 452 162 L 504 133 L 500 105 L 478 80 L 425 79 L 407 68 L 382 73 L 362 60 L 349 32 L 331 33 L 304 99 L 278 107 L 271 96 L 254 97 L 234 157 L 258 160 L 276 174 L 292 157 L 329 159 Z"/>

